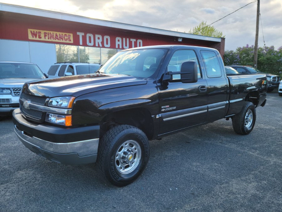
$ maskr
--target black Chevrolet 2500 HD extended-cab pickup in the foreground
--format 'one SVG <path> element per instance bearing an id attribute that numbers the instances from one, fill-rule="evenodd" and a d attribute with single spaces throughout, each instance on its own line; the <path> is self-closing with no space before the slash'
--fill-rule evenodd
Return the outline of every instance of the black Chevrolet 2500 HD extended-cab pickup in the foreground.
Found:
<path id="1" fill-rule="evenodd" d="M 34 153 L 62 164 L 96 162 L 116 186 L 149 160 L 148 140 L 232 118 L 252 131 L 266 102 L 265 74 L 227 76 L 219 52 L 196 46 L 123 50 L 95 74 L 24 84 L 14 130 Z"/>

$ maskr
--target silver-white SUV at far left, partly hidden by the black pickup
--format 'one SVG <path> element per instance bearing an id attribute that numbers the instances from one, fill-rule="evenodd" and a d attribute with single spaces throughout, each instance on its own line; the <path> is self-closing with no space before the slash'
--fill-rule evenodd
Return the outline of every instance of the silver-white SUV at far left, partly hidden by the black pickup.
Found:
<path id="1" fill-rule="evenodd" d="M 19 107 L 24 83 L 46 77 L 34 63 L 0 61 L 0 117 L 11 115 Z"/>

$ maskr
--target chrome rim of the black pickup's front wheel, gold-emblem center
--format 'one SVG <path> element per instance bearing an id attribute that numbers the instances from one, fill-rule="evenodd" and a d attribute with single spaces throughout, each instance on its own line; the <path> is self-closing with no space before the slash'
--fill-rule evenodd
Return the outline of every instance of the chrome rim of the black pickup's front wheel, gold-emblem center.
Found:
<path id="1" fill-rule="evenodd" d="M 128 174 L 138 166 L 141 160 L 141 147 L 134 141 L 124 142 L 115 155 L 115 165 L 118 172 Z"/>

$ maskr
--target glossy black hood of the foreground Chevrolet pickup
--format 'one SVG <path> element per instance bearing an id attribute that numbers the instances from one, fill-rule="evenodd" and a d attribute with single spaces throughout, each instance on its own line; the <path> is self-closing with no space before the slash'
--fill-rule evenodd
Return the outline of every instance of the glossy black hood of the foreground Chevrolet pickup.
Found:
<path id="1" fill-rule="evenodd" d="M 28 82 L 24 93 L 44 96 L 80 96 L 83 94 L 118 87 L 146 84 L 147 80 L 118 74 L 85 74 Z"/>

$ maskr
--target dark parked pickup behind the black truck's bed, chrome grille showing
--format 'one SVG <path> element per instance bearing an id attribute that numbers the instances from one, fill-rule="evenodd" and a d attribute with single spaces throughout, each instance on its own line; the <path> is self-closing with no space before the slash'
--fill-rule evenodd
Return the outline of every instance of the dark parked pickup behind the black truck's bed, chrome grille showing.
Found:
<path id="1" fill-rule="evenodd" d="M 232 67 L 235 70 L 237 70 L 239 73 L 243 73 L 243 74 L 265 74 L 268 81 L 268 88 L 267 88 L 268 92 L 273 91 L 275 88 L 278 88 L 279 86 L 280 77 L 278 75 L 274 75 L 271 73 L 262 73 L 258 69 L 253 68 L 251 66 L 229 66 L 229 67 Z"/>

